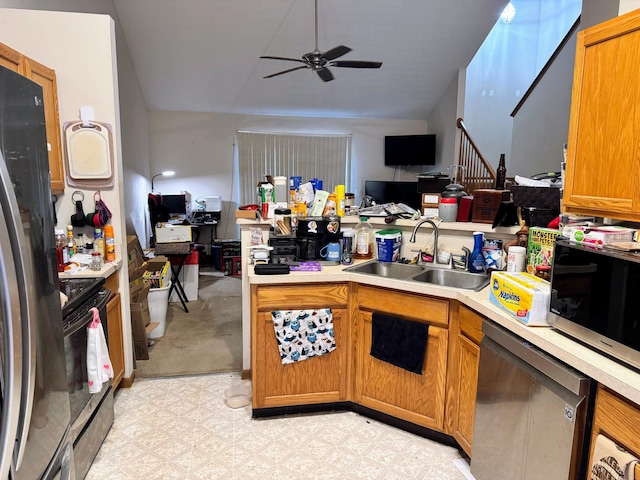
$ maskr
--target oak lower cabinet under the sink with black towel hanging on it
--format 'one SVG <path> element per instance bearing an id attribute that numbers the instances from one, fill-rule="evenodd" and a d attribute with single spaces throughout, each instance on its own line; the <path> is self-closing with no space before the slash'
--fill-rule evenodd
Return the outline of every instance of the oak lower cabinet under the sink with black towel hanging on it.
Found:
<path id="1" fill-rule="evenodd" d="M 355 402 L 442 431 L 448 348 L 448 300 L 358 285 L 355 295 Z M 370 355 L 374 312 L 429 324 L 422 374 Z"/>

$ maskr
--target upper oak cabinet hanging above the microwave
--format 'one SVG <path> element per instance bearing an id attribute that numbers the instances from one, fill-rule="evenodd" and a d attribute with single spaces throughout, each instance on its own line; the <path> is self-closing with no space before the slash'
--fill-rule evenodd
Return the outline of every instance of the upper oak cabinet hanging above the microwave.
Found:
<path id="1" fill-rule="evenodd" d="M 578 33 L 564 210 L 640 221 L 640 11 Z"/>

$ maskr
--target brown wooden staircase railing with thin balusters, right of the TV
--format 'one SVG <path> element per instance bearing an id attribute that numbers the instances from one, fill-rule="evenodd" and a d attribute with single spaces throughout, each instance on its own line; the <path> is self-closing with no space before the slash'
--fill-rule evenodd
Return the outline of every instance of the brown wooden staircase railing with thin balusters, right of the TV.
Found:
<path id="1" fill-rule="evenodd" d="M 469 195 L 473 195 L 473 192 L 479 188 L 493 188 L 496 181 L 495 170 L 480 153 L 464 121 L 458 118 L 456 125 L 461 133 L 458 155 L 458 165 L 461 168 L 457 169 L 456 181 L 464 186 Z"/>

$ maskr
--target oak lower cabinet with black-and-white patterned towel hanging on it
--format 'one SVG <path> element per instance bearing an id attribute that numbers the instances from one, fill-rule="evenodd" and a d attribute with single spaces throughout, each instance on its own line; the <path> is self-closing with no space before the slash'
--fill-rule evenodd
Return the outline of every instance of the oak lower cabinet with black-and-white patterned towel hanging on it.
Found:
<path id="1" fill-rule="evenodd" d="M 351 381 L 349 286 L 252 286 L 251 371 L 253 408 L 341 402 Z M 336 349 L 324 355 L 283 365 L 271 312 L 331 308 Z"/>

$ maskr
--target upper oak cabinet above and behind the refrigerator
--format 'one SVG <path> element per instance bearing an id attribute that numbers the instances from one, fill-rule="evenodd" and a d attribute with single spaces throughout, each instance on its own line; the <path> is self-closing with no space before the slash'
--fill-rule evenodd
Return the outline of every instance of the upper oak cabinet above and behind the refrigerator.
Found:
<path id="1" fill-rule="evenodd" d="M 60 136 L 56 72 L 2 43 L 0 43 L 0 65 L 24 75 L 42 87 L 49 147 L 51 193 L 64 193 L 65 183 L 64 169 L 62 167 L 62 140 Z"/>

